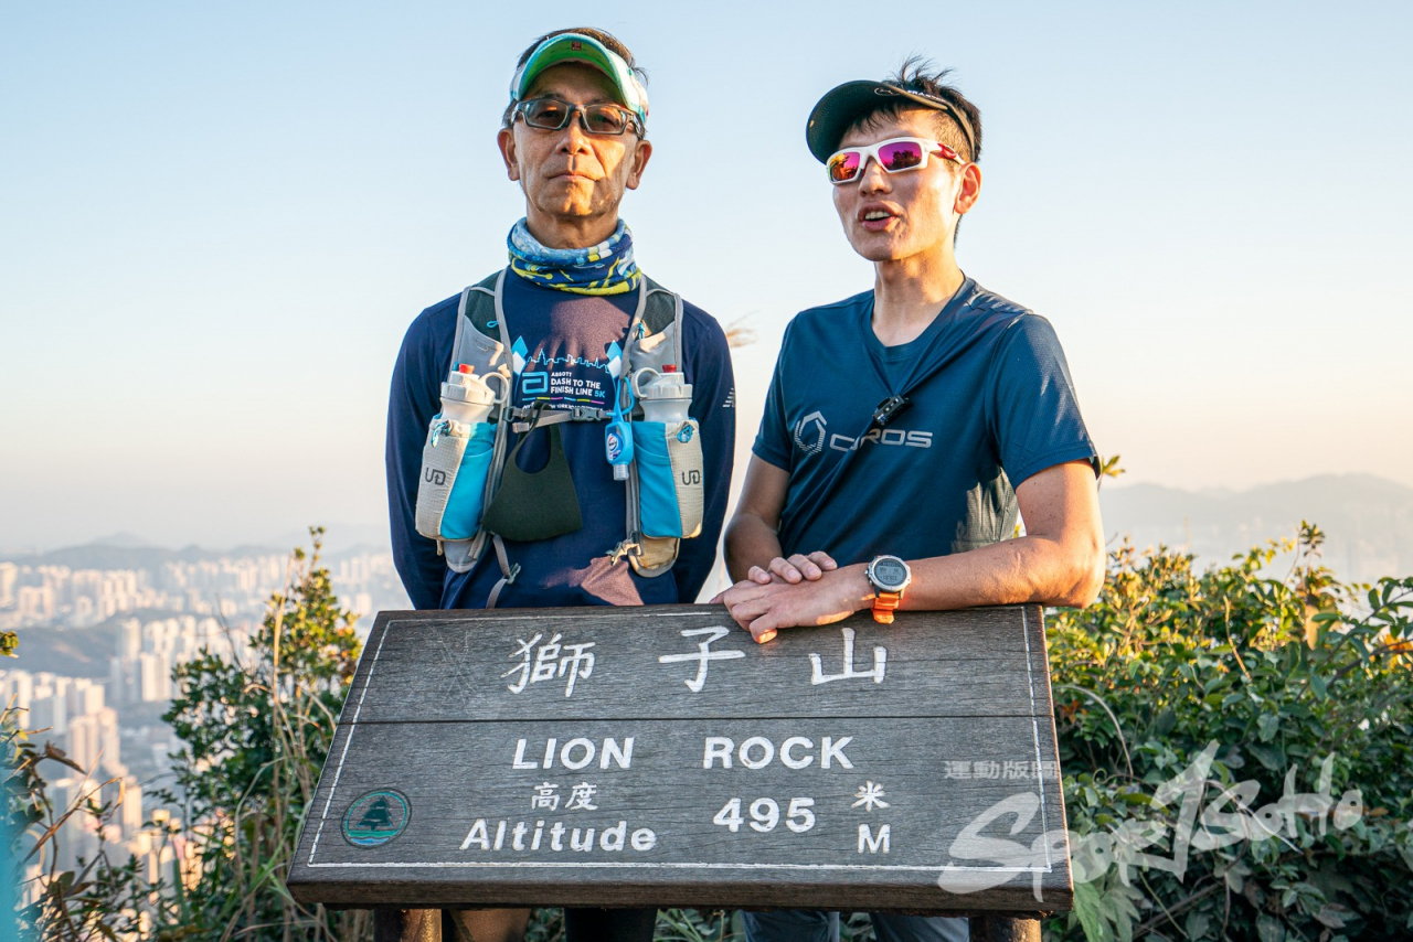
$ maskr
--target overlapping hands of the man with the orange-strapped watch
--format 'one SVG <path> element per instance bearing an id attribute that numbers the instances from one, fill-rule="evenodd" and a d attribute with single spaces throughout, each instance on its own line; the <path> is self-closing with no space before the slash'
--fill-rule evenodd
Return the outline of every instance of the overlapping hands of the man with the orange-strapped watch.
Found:
<path id="1" fill-rule="evenodd" d="M 829 568 L 814 564 L 821 569 L 817 579 L 800 582 L 786 582 L 783 576 L 756 582 L 755 573 L 760 571 L 756 566 L 752 579 L 742 579 L 712 602 L 725 604 L 736 624 L 750 631 L 759 644 L 774 638 L 780 628 L 842 621 L 869 606 L 873 586 L 863 576 L 863 566 L 838 569 L 832 568 L 832 559 L 828 562 Z"/>

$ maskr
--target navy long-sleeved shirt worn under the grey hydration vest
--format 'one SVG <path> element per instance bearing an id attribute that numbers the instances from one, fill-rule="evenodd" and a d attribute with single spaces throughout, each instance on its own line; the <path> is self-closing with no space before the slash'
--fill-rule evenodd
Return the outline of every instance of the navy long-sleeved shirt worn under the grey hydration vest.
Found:
<path id="1" fill-rule="evenodd" d="M 393 370 L 387 407 L 387 493 L 393 559 L 418 609 L 480 609 L 500 579 L 495 554 L 458 575 L 437 555 L 437 542 L 417 532 L 417 483 L 427 425 L 441 410 L 441 384 L 451 370 L 461 295 L 427 308 L 413 322 Z M 517 374 L 516 405 L 612 408 L 617 356 L 637 305 L 637 292 L 578 295 L 506 275 L 504 311 Z M 475 329 L 468 325 L 468 329 Z M 701 424 L 705 515 L 701 535 L 681 542 L 670 573 L 643 578 L 608 552 L 626 532 L 627 493 L 613 480 L 603 453 L 603 422 L 558 425 L 584 525 L 575 532 L 514 542 L 506 549 L 520 576 L 497 607 L 582 604 L 668 604 L 694 602 L 716 559 L 726 515 L 736 445 L 735 380 L 726 335 L 706 312 L 685 304 L 680 364 L 692 384 L 690 414 Z M 512 446 L 514 445 L 512 441 Z M 516 463 L 538 470 L 548 458 L 548 432 L 538 429 Z"/>

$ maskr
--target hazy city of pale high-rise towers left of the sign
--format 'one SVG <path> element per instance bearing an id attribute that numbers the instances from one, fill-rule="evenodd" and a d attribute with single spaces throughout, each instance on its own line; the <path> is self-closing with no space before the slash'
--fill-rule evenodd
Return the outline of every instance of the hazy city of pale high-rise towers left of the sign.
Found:
<path id="1" fill-rule="evenodd" d="M 206 654 L 249 660 L 270 595 L 288 578 L 288 556 L 158 562 L 129 549 L 126 558 L 112 554 L 116 565 L 88 566 L 93 561 L 82 555 L 72 562 L 0 561 L 0 630 L 21 638 L 18 657 L 0 658 L 0 706 L 18 710 L 24 729 L 83 770 L 41 763 L 59 813 L 88 795 L 116 805 L 102 835 L 89 815 L 68 819 L 59 867 L 92 860 L 102 836 L 155 876 L 171 863 L 171 847 L 148 823 L 160 813 L 151 798 L 175 787 L 171 753 L 181 746 L 160 722 L 181 691 L 172 671 Z M 341 604 L 365 616 L 355 626 L 360 633 L 377 610 L 408 607 L 386 551 L 325 562 Z M 181 813 L 179 804 L 167 813 Z M 40 857 L 25 869 L 31 891 L 44 866 Z"/>

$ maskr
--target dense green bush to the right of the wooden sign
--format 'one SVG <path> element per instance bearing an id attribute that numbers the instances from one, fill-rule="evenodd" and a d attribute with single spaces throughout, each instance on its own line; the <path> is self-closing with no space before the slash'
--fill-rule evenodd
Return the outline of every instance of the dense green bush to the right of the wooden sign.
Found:
<path id="1" fill-rule="evenodd" d="M 1098 603 L 1053 616 L 1080 839 L 1075 912 L 1050 919 L 1047 938 L 1413 938 L 1413 579 L 1344 585 L 1318 565 L 1321 541 L 1304 524 L 1296 544 L 1204 573 L 1184 554 L 1123 548 Z M 1289 573 L 1266 575 L 1282 549 L 1296 554 Z M 1194 788 L 1156 806 L 1204 750 Z M 1253 785 L 1225 791 L 1239 782 Z M 1287 791 L 1330 799 L 1273 818 Z M 1265 829 L 1231 826 L 1262 811 Z M 1123 840 L 1163 823 L 1153 846 Z"/>

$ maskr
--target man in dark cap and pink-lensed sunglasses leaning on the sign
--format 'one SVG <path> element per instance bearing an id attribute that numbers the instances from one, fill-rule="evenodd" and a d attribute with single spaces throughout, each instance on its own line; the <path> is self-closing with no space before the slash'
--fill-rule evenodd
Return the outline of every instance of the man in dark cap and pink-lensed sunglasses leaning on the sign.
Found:
<path id="1" fill-rule="evenodd" d="M 797 315 L 780 347 L 726 531 L 739 582 L 719 596 L 759 643 L 863 609 L 889 623 L 896 609 L 1085 606 L 1104 583 L 1096 452 L 1054 329 L 957 264 L 981 114 L 945 75 L 910 62 L 810 116 L 875 281 Z M 752 942 L 839 935 L 834 912 L 745 919 Z M 965 919 L 873 925 L 885 942 L 968 935 Z"/>

